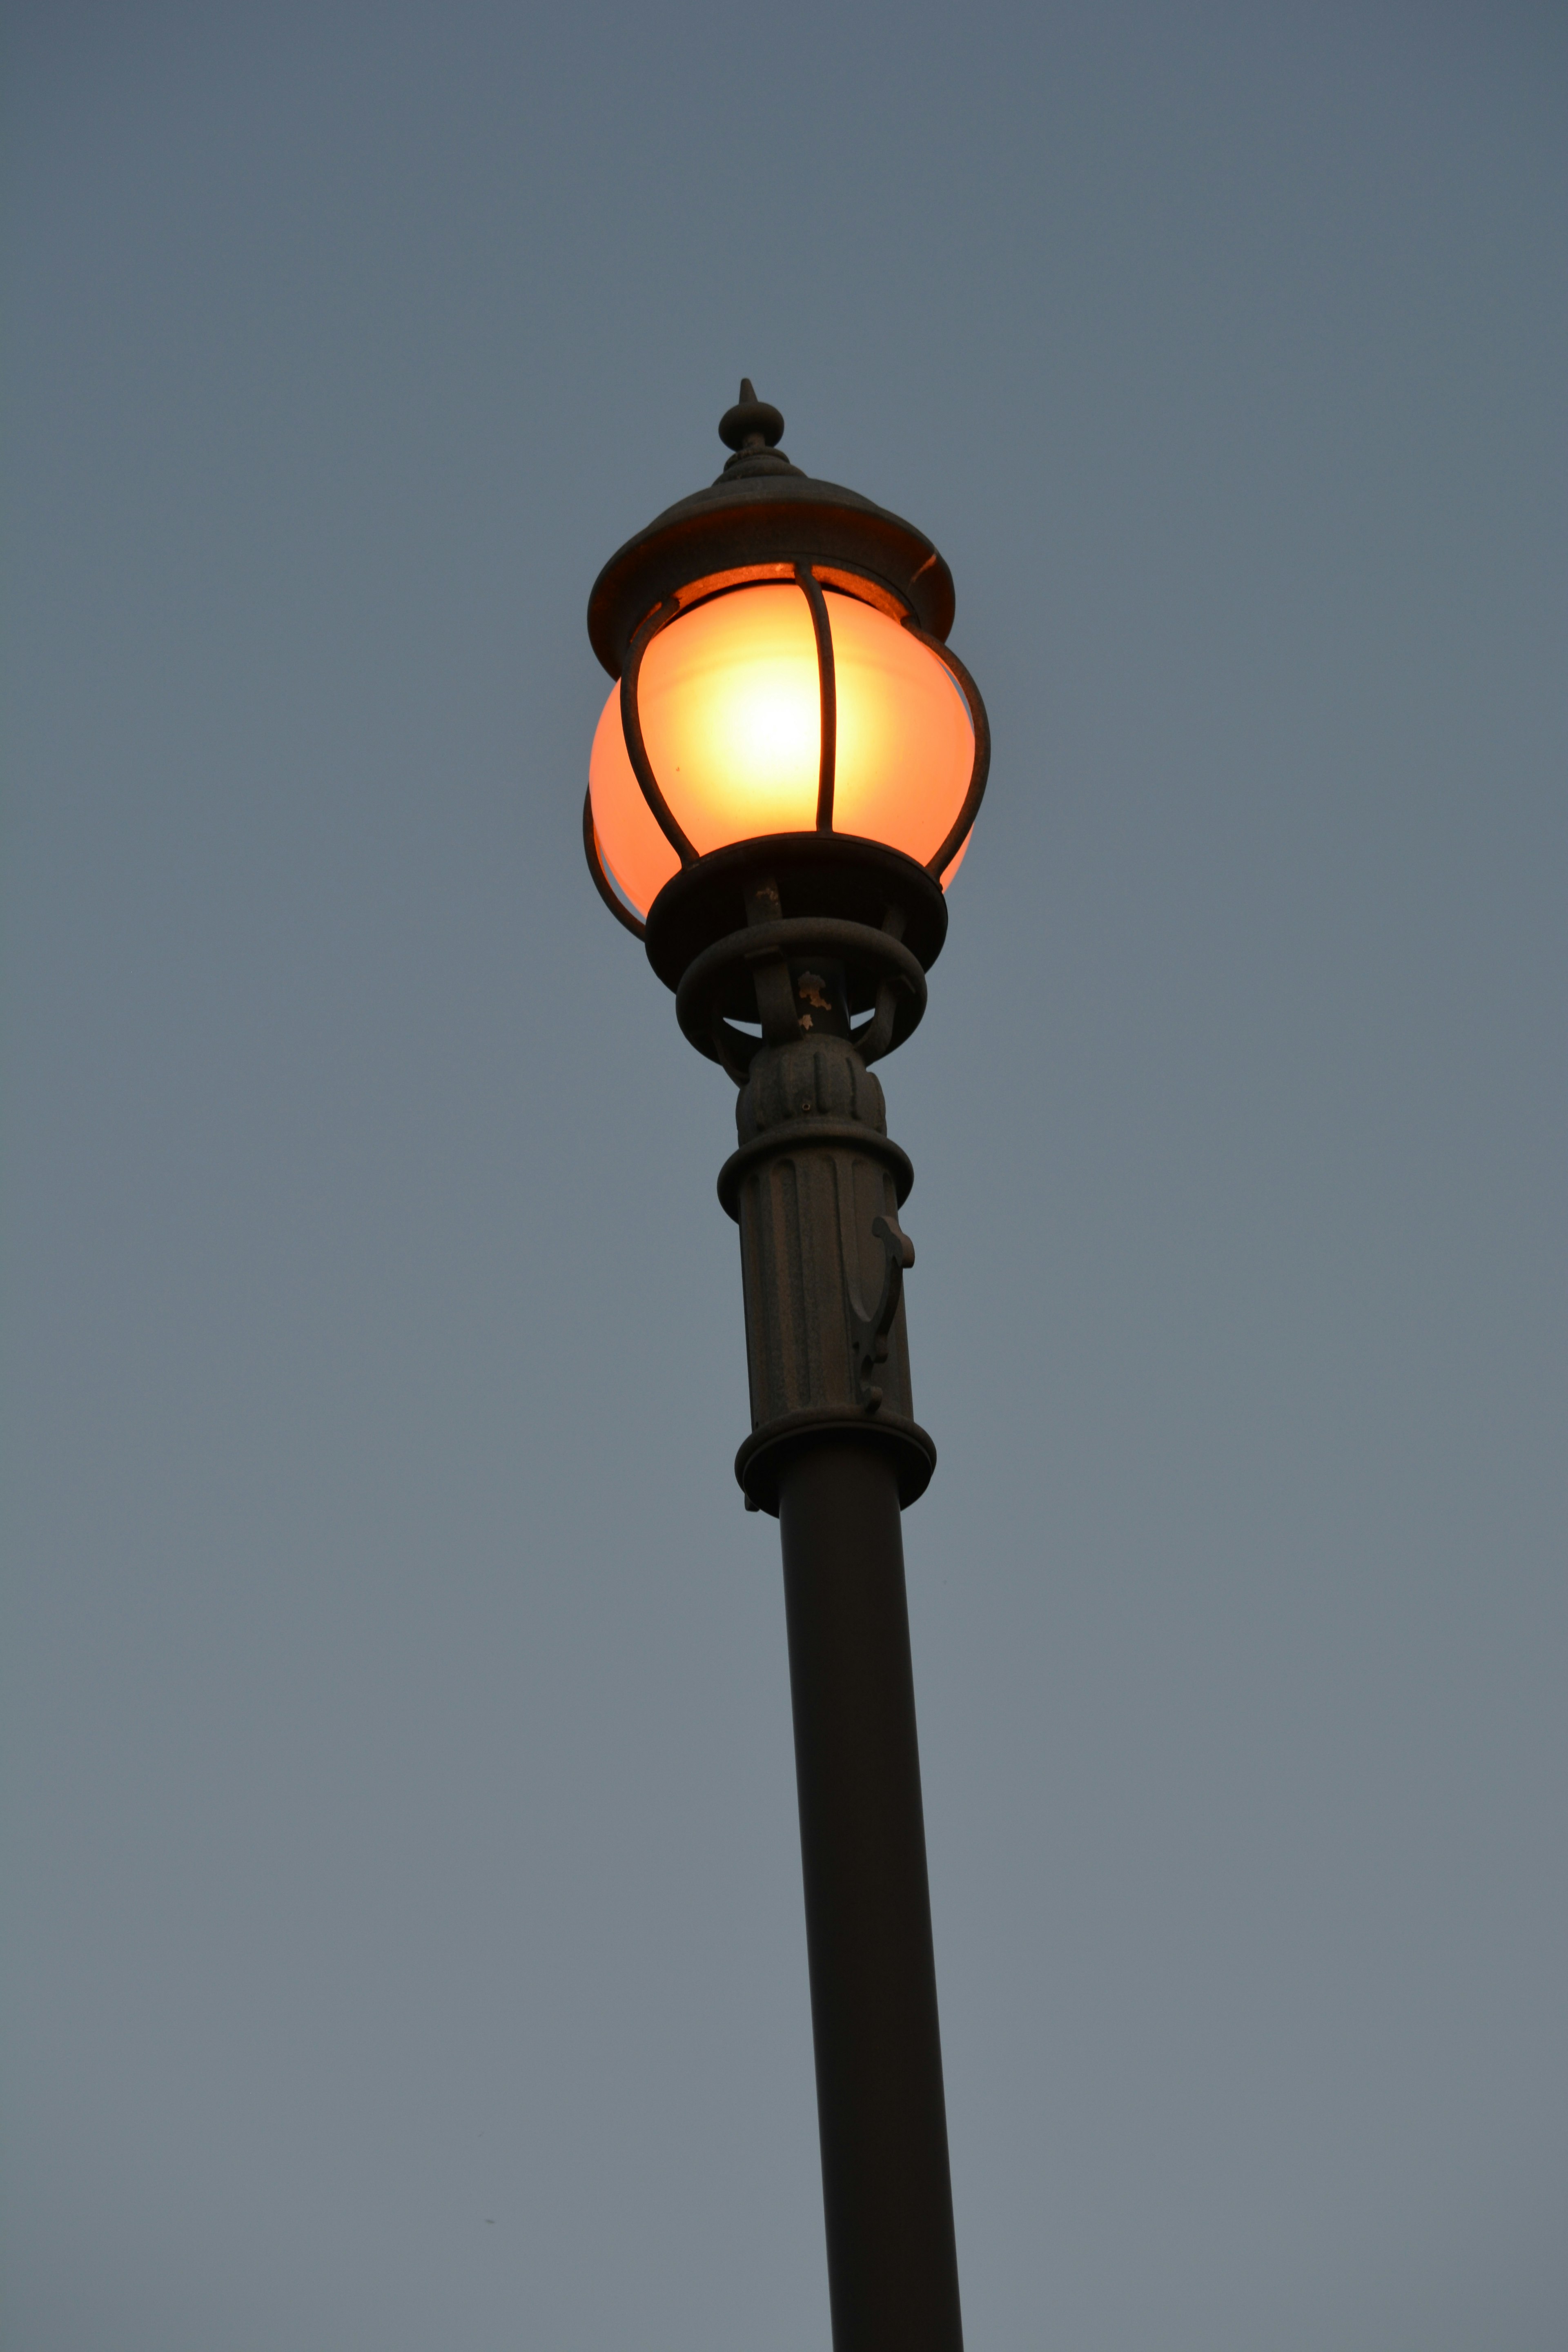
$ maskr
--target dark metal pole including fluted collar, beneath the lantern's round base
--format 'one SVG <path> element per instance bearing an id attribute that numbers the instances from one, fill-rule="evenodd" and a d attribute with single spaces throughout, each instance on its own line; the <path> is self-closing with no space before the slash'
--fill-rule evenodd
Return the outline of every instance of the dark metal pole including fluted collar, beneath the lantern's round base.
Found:
<path id="1" fill-rule="evenodd" d="M 898 1207 L 914 1171 L 849 1035 L 842 967 L 748 908 L 764 1044 L 719 1200 L 741 1225 L 752 1435 L 736 1472 L 783 1534 L 799 1851 L 835 2352 L 961 2352 L 900 1510 L 912 1418 Z M 872 934 L 875 936 L 875 934 Z"/>

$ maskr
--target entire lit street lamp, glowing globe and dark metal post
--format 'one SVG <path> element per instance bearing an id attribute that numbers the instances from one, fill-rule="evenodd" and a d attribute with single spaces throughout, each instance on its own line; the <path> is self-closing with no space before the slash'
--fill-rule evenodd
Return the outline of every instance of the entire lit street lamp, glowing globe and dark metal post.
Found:
<path id="1" fill-rule="evenodd" d="M 733 452 L 604 564 L 583 847 L 599 896 L 738 1087 L 750 1510 L 783 1536 L 835 2352 L 957 2352 L 900 1510 L 914 1421 L 898 1223 L 914 1171 L 872 1063 L 914 1030 L 985 790 L 985 706 L 947 652 L 929 539 L 778 447 Z"/>

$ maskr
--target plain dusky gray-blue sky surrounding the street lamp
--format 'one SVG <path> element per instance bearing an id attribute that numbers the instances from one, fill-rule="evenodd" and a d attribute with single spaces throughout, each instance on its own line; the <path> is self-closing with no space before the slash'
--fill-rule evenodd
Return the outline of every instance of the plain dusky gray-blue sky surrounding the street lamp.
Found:
<path id="1" fill-rule="evenodd" d="M 884 1070 L 971 2352 L 1556 2352 L 1561 16 L 5 47 L 7 2352 L 827 2340 L 729 1089 L 576 833 L 743 369 L 997 729 Z"/>

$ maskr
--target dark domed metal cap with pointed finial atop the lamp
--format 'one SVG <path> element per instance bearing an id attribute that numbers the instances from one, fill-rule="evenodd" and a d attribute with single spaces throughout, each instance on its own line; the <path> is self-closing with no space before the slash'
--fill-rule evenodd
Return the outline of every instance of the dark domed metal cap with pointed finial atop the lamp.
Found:
<path id="1" fill-rule="evenodd" d="M 604 564 L 588 597 L 588 637 L 611 677 L 621 675 L 639 623 L 698 581 L 792 564 L 837 567 L 863 579 L 879 602 L 893 597 L 917 628 L 945 640 L 952 628 L 952 572 L 924 532 L 842 482 L 820 482 L 778 447 L 783 414 L 759 400 L 750 376 L 719 419 L 731 452 L 708 489 L 656 515 Z"/>

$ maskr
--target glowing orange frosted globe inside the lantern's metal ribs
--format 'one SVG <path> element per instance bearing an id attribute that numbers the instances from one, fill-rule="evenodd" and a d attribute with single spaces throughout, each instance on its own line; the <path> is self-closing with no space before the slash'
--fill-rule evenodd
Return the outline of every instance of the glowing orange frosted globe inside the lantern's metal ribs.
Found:
<path id="1" fill-rule="evenodd" d="M 964 802 L 976 739 L 950 670 L 886 614 L 827 590 L 837 682 L 835 833 L 931 858 Z M 823 755 L 811 609 L 799 588 L 717 595 L 654 637 L 637 684 L 658 788 L 698 854 L 811 833 Z M 639 915 L 677 870 L 611 687 L 588 762 L 599 856 Z M 943 887 L 961 861 L 952 861 Z"/>

